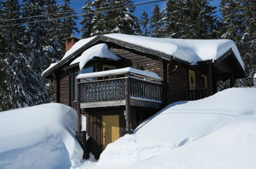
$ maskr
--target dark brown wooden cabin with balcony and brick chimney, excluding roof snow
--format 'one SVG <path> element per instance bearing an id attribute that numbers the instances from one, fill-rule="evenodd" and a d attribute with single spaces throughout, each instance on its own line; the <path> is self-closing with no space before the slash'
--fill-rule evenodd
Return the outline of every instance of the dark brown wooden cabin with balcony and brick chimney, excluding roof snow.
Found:
<path id="1" fill-rule="evenodd" d="M 78 39 L 71 36 L 65 40 L 68 50 L 70 43 L 74 44 Z M 102 43 L 107 44 L 108 49 L 122 59 L 116 61 L 94 57 L 84 67 L 88 72 L 131 67 L 155 72 L 163 81 L 143 81 L 142 78 L 145 77 L 137 78 L 136 74 L 126 72 L 111 76 L 94 76 L 94 81 L 90 82 L 78 79 L 77 85 L 79 67 L 78 64 L 70 66 L 70 63 L 85 50 Z M 54 81 L 55 102 L 69 105 L 76 109 L 78 114 L 86 115 L 86 132 L 91 137 L 90 150 L 95 158 L 99 159 L 108 143 L 127 131 L 129 133 L 134 130 L 143 120 L 166 105 L 175 101 L 210 96 L 217 92 L 218 79 L 230 79 L 230 87 L 233 87 L 235 79 L 244 78 L 245 72 L 231 49 L 214 62 L 206 60 L 192 66 L 171 55 L 99 35 L 45 71 L 42 77 Z M 104 85 L 112 85 L 112 88 L 102 87 Z M 92 90 L 84 94 L 88 88 Z M 77 90 L 80 92 L 77 93 Z M 134 90 L 140 94 L 136 94 L 136 91 L 134 93 Z M 106 96 L 99 99 L 103 95 L 102 92 L 105 92 Z M 130 98 L 132 95 L 149 99 L 136 100 Z M 158 101 L 152 101 L 155 99 Z M 81 130 L 80 122 L 81 119 L 78 118 L 78 131 Z"/>

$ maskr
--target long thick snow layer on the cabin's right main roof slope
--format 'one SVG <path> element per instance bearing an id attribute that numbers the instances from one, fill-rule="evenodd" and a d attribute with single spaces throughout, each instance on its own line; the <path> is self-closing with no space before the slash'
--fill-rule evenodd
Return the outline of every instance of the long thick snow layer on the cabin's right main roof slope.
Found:
<path id="1" fill-rule="evenodd" d="M 244 63 L 237 46 L 235 46 L 232 40 L 228 39 L 172 39 L 118 33 L 107 34 L 104 36 L 172 55 L 175 58 L 189 62 L 191 65 L 196 65 L 196 62 L 198 61 L 214 61 L 231 48 L 241 66 L 244 68 Z"/>

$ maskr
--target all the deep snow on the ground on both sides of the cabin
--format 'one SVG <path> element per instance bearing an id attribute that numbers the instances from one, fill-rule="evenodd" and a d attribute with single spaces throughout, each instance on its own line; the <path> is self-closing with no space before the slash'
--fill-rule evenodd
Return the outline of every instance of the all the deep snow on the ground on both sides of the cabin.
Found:
<path id="1" fill-rule="evenodd" d="M 0 112 L 0 168 L 255 168 L 255 98 L 254 88 L 232 88 L 172 103 L 108 144 L 98 162 L 82 160 L 72 108 Z"/>

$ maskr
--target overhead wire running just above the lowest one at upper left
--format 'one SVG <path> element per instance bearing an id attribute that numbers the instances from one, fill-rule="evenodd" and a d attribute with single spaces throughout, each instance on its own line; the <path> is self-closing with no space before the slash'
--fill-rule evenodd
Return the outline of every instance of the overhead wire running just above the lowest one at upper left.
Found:
<path id="1" fill-rule="evenodd" d="M 123 0 L 123 1 L 127 1 L 127 0 Z M 119 2 L 123 2 L 123 1 L 119 1 Z M 150 2 L 150 1 L 154 1 L 154 0 L 148 0 L 148 1 L 141 1 L 141 2 L 135 2 L 135 3 L 127 3 L 127 4 L 138 4 L 138 3 L 143 3 L 143 2 Z M 116 3 L 116 2 L 113 2 Z M 96 7 L 96 6 L 102 6 L 102 5 L 108 5 L 108 4 L 113 4 L 113 3 L 106 3 L 106 4 L 101 4 L 101 5 L 93 5 L 93 6 L 88 6 L 88 8 L 90 7 Z M 121 6 L 121 5 L 127 5 L 127 4 L 120 4 L 120 5 L 115 5 L 115 6 Z M 112 7 L 115 7 L 112 6 Z M 101 8 L 108 8 L 108 7 L 101 7 Z M 98 9 L 101 9 L 98 8 Z M 11 20 L 20 20 L 20 19 L 27 19 L 27 18 L 33 18 L 33 17 L 42 17 L 42 16 L 49 16 L 49 15 L 59 15 L 59 14 L 68 14 L 68 13 L 73 13 L 73 12 L 82 12 L 82 10 L 80 11 L 76 11 L 78 9 L 83 9 L 83 8 L 76 8 L 76 9 L 70 9 L 70 10 L 66 10 L 66 11 L 58 11 L 58 12 L 53 12 L 53 13 L 46 13 L 46 14 L 42 14 L 42 15 L 34 15 L 34 16 L 28 16 L 28 17 L 20 17 L 20 18 L 15 18 L 15 19 L 4 19 L 4 20 L 0 20 L 1 22 L 9 22 Z M 70 12 L 68 12 L 70 11 Z"/>

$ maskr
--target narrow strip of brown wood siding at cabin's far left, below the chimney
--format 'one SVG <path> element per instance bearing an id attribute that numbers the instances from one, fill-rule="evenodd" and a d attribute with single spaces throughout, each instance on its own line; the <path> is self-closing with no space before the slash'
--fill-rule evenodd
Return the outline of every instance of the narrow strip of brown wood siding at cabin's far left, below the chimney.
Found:
<path id="1" fill-rule="evenodd" d="M 63 75 L 60 78 L 60 103 L 69 105 L 69 75 Z"/>

